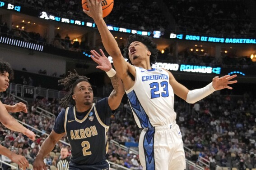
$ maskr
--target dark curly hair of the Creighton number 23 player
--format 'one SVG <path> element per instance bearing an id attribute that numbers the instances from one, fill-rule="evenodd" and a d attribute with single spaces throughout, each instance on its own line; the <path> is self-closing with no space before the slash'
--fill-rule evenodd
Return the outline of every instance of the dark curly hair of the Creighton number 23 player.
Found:
<path id="1" fill-rule="evenodd" d="M 124 58 L 128 59 L 128 63 L 131 64 L 131 61 L 129 58 L 129 46 L 134 41 L 139 41 L 139 42 L 143 43 L 148 48 L 148 50 L 151 52 L 150 65 L 152 66 L 154 63 L 156 63 L 157 56 L 158 56 L 157 44 L 154 43 L 154 41 L 151 39 L 151 37 L 143 36 L 140 34 L 130 35 L 129 38 L 127 38 L 126 45 L 125 45 L 125 48 L 123 49 L 123 51 L 124 51 Z"/>

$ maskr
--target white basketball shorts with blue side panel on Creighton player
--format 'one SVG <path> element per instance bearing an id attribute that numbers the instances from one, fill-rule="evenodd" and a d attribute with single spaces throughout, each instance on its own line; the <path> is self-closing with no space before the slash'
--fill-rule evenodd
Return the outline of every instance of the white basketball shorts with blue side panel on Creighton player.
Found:
<path id="1" fill-rule="evenodd" d="M 185 152 L 179 126 L 172 123 L 142 130 L 139 157 L 143 170 L 186 169 Z"/>

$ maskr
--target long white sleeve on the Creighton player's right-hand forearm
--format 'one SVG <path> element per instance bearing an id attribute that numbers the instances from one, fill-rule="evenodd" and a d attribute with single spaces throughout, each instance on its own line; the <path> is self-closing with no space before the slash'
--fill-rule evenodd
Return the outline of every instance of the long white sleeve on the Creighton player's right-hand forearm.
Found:
<path id="1" fill-rule="evenodd" d="M 187 103 L 195 103 L 206 96 L 212 94 L 215 91 L 212 83 L 209 85 L 206 85 L 204 88 L 201 89 L 194 89 L 194 90 L 189 90 L 187 96 L 186 96 L 186 102 Z"/>

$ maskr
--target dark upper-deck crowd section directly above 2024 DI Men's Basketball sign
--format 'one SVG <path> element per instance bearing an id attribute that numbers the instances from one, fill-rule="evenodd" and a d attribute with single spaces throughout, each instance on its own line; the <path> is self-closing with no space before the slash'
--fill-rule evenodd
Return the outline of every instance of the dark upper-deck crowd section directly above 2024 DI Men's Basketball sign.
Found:
<path id="1" fill-rule="evenodd" d="M 252 36 L 247 3 L 244 0 L 164 0 L 181 31 L 212 36 Z"/>

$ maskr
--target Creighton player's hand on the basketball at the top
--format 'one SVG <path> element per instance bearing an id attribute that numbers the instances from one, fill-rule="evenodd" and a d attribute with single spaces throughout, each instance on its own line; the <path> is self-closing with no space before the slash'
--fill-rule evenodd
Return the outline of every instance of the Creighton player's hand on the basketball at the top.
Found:
<path id="1" fill-rule="evenodd" d="M 89 10 L 83 9 L 89 17 L 92 17 L 94 21 L 102 18 L 102 0 L 87 0 Z"/>

